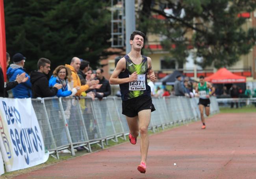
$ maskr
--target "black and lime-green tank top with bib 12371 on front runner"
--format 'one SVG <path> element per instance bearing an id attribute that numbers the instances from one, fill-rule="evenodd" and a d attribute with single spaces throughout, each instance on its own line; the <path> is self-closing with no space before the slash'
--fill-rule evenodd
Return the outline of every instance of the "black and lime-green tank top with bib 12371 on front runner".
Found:
<path id="1" fill-rule="evenodd" d="M 120 84 L 122 101 L 136 98 L 138 96 L 151 96 L 150 86 L 147 83 L 148 59 L 142 56 L 140 64 L 134 64 L 128 55 L 125 55 L 126 68 L 121 72 L 118 78 L 128 78 L 132 73 L 137 72 L 138 79 L 129 83 Z"/>

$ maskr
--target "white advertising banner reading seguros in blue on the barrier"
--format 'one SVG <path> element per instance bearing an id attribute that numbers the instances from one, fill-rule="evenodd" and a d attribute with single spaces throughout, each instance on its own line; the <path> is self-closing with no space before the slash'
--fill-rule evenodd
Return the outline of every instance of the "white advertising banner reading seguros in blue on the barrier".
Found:
<path id="1" fill-rule="evenodd" d="M 0 148 L 6 172 L 46 162 L 43 136 L 31 98 L 0 98 Z"/>

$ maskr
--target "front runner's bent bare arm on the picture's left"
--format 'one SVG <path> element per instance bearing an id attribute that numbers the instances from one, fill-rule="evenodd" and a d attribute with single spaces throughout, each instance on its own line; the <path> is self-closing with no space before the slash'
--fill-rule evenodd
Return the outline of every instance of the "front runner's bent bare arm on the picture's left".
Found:
<path id="1" fill-rule="evenodd" d="M 125 58 L 122 57 L 117 62 L 117 66 L 115 67 L 115 70 L 113 71 L 113 74 L 109 78 L 109 84 L 111 84 L 111 85 L 119 85 L 119 84 L 123 84 L 123 83 L 129 83 L 129 82 L 135 81 L 137 79 L 137 78 L 135 79 L 135 77 L 134 77 L 135 74 L 137 76 L 136 72 L 134 72 L 132 74 L 132 76 L 130 76 L 128 78 L 121 78 L 121 79 L 119 79 L 118 76 L 125 69 L 125 67 L 126 67 L 126 61 L 125 61 Z"/>

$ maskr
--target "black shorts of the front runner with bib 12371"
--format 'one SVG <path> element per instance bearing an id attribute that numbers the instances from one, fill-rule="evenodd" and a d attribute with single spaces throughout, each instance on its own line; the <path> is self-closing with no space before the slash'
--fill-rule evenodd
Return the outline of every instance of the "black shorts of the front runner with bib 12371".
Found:
<path id="1" fill-rule="evenodd" d="M 152 104 L 151 96 L 139 96 L 130 100 L 122 101 L 122 114 L 133 118 L 138 115 L 139 111 L 151 109 L 156 111 Z"/>

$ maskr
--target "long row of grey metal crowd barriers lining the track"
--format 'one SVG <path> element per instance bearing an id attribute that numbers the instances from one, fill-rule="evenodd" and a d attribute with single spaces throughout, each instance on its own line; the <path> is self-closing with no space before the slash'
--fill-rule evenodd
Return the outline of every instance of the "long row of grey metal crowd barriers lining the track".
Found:
<path id="1" fill-rule="evenodd" d="M 215 97 L 210 98 L 210 113 L 219 112 Z M 148 129 L 153 132 L 177 123 L 186 123 L 200 119 L 198 98 L 164 97 L 152 98 L 156 111 L 151 113 Z M 126 140 L 129 127 L 122 113 L 122 100 L 118 97 L 107 97 L 102 100 L 81 98 L 40 98 L 32 99 L 32 105 L 45 147 L 51 154 L 69 149 L 75 155 L 77 147 L 91 152 L 91 145 L 101 148 L 108 145 L 108 140 L 118 142 L 121 137 Z"/>

